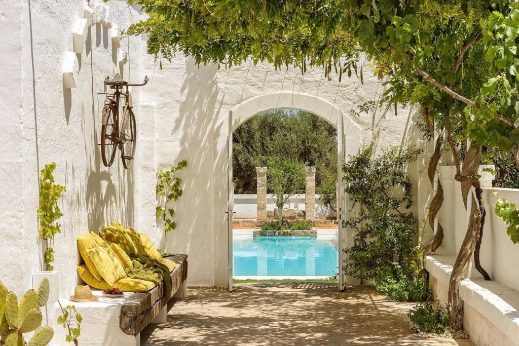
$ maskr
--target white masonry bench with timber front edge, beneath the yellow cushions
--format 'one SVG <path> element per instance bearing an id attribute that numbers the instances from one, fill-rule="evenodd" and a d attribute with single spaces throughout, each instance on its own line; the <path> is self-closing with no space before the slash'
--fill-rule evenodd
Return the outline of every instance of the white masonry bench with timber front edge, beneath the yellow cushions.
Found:
<path id="1" fill-rule="evenodd" d="M 172 289 L 169 297 L 163 296 L 163 284 L 155 286 L 146 293 L 125 292 L 120 298 L 104 297 L 101 290 L 92 290 L 99 298 L 95 302 L 75 302 L 67 298 L 60 299 L 63 307 L 74 305 L 83 317 L 79 344 L 83 346 L 140 345 L 140 333 L 148 324 L 164 323 L 168 311 L 177 298 L 186 295 L 187 255 L 167 257 L 177 266 L 170 274 Z M 47 315 L 54 337 L 50 345 L 64 345 L 66 330 L 55 322 L 61 315 L 58 302 L 54 303 Z"/>

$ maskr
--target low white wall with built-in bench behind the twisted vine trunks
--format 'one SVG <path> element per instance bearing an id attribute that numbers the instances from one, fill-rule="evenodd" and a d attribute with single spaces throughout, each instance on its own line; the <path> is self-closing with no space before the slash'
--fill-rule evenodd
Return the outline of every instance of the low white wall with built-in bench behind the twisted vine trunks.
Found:
<path id="1" fill-rule="evenodd" d="M 433 294 L 443 302 L 447 302 L 450 272 L 468 221 L 460 184 L 454 180 L 454 174 L 453 166 L 439 170 L 444 202 L 438 220 L 445 237 L 438 251 L 426 261 Z M 489 187 L 483 190 L 486 220 L 480 258 L 493 281 L 485 281 L 471 261 L 467 279 L 460 283 L 465 309 L 463 327 L 478 345 L 516 345 L 519 344 L 519 246 L 508 238 L 507 226 L 494 212 L 497 199 L 494 193 L 519 205 L 519 189 Z"/>

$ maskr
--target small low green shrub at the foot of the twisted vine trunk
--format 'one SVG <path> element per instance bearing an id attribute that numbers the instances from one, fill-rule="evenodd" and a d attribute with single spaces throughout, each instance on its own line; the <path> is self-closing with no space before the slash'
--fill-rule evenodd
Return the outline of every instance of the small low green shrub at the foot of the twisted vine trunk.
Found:
<path id="1" fill-rule="evenodd" d="M 449 321 L 453 315 L 448 305 L 442 305 L 439 300 L 426 301 L 417 304 L 407 313 L 413 326 L 422 333 L 443 334 L 450 330 Z"/>

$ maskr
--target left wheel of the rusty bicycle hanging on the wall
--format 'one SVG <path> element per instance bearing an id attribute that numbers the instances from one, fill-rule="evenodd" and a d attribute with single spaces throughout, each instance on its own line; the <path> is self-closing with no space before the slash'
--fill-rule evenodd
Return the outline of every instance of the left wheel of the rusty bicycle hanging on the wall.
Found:
<path id="1" fill-rule="evenodd" d="M 114 163 L 115 151 L 117 149 L 119 115 L 113 100 L 106 99 L 103 107 L 103 118 L 101 120 L 101 157 L 105 167 Z"/>

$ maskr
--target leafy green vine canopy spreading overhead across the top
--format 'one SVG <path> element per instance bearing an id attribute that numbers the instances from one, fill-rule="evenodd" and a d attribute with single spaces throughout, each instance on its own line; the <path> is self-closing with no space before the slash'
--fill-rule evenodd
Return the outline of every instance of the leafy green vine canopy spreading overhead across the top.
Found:
<path id="1" fill-rule="evenodd" d="M 197 63 L 251 59 L 351 75 L 366 54 L 388 103 L 420 104 L 427 123 L 459 122 L 480 146 L 514 150 L 519 9 L 513 0 L 129 0 L 149 18 L 148 52 Z"/>

